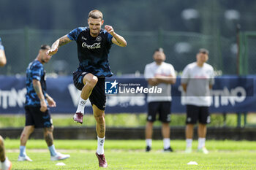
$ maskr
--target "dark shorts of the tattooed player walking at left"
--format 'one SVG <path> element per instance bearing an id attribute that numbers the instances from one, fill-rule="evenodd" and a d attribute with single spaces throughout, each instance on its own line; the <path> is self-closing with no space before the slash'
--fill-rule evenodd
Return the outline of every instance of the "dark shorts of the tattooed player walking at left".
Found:
<path id="1" fill-rule="evenodd" d="M 45 112 L 41 112 L 40 108 L 41 107 L 32 106 L 25 107 L 26 126 L 34 125 L 34 128 L 50 128 L 53 125 L 49 109 Z"/>

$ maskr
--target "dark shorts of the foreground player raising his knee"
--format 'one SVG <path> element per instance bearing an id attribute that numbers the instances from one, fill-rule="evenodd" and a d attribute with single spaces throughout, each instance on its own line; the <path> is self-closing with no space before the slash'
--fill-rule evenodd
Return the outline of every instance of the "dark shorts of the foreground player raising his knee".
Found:
<path id="1" fill-rule="evenodd" d="M 88 72 L 73 72 L 73 82 L 75 88 L 78 90 L 82 90 L 83 77 L 88 74 Z M 91 91 L 91 95 L 89 100 L 91 101 L 91 105 L 95 104 L 99 109 L 105 110 L 106 104 L 106 94 L 105 94 L 105 77 L 97 77 L 98 82 L 94 86 L 94 89 Z"/>

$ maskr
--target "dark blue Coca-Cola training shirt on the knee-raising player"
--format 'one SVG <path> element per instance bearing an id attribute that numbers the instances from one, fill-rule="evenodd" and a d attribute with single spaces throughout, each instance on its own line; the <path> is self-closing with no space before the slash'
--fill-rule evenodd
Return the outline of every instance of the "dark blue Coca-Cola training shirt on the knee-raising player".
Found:
<path id="1" fill-rule="evenodd" d="M 101 29 L 99 36 L 92 37 L 88 27 L 79 27 L 67 34 L 78 45 L 78 72 L 89 72 L 97 77 L 111 77 L 108 63 L 113 36 Z"/>

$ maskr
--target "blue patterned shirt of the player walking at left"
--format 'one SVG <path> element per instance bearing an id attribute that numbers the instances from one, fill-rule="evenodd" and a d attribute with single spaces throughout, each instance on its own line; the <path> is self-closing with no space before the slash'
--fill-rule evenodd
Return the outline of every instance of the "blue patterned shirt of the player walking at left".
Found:
<path id="1" fill-rule="evenodd" d="M 26 69 L 26 102 L 25 106 L 39 107 L 40 100 L 34 90 L 33 80 L 39 80 L 41 82 L 42 93 L 45 96 L 46 84 L 45 84 L 45 70 L 38 60 L 34 60 L 29 63 Z M 46 102 L 47 104 L 47 102 Z"/>

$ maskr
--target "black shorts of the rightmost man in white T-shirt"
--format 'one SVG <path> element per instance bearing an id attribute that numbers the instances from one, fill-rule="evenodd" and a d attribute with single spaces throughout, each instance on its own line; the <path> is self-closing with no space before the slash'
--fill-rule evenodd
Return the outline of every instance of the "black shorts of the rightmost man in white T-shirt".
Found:
<path id="1" fill-rule="evenodd" d="M 196 124 L 197 120 L 202 124 L 211 123 L 209 107 L 197 107 L 188 104 L 186 124 Z"/>

